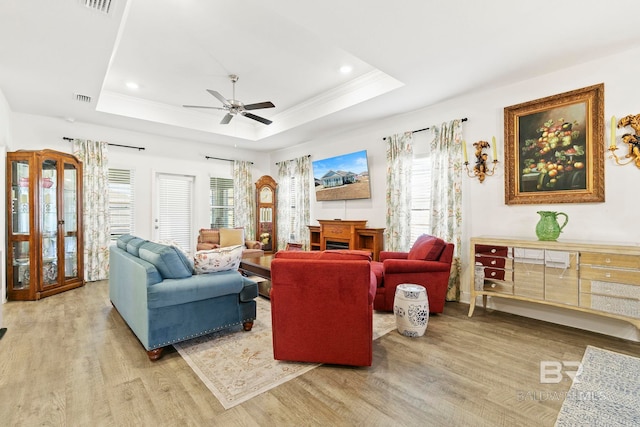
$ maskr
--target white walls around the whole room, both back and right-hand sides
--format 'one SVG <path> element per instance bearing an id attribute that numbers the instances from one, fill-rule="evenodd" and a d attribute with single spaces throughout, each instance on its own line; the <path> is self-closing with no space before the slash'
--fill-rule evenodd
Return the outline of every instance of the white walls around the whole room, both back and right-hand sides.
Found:
<path id="1" fill-rule="evenodd" d="M 608 158 L 605 160 L 605 203 L 557 204 L 507 206 L 504 203 L 504 163 L 503 163 L 503 114 L 506 106 L 519 104 L 573 89 L 598 83 L 605 83 L 605 122 L 612 115 L 622 117 L 637 114 L 637 94 L 635 94 L 635 74 L 640 65 L 640 49 L 602 59 L 594 59 L 579 66 L 559 70 L 555 73 L 498 88 L 487 88 L 465 96 L 460 96 L 439 104 L 401 116 L 382 120 L 357 131 L 307 141 L 288 150 L 281 150 L 266 156 L 243 150 L 226 149 L 213 145 L 199 144 L 125 130 L 106 128 L 81 123 L 67 123 L 62 119 L 50 119 L 22 114 L 12 115 L 13 140 L 8 150 L 20 148 L 54 148 L 69 151 L 70 144 L 62 141 L 63 136 L 112 143 L 145 146 L 147 150 L 137 152 L 112 148 L 111 164 L 114 167 L 136 169 L 136 191 L 141 206 L 149 207 L 151 201 L 154 171 L 183 173 L 196 176 L 198 182 L 196 201 L 198 225 L 208 222 L 207 185 L 209 174 L 228 168 L 226 162 L 204 160 L 204 155 L 252 160 L 254 178 L 263 174 L 277 176 L 276 162 L 303 155 L 311 155 L 312 160 L 367 150 L 371 179 L 372 198 L 311 203 L 312 224 L 318 219 L 366 219 L 371 227 L 384 227 L 386 218 L 385 143 L 382 138 L 393 133 L 421 129 L 455 118 L 467 117 L 463 124 L 464 138 L 468 143 L 477 140 L 497 138 L 498 173 L 488 177 L 482 184 L 477 179 L 464 178 L 463 181 L 463 260 L 462 300 L 469 299 L 469 247 L 472 236 L 495 235 L 505 237 L 535 238 L 535 224 L 538 210 L 566 212 L 569 224 L 561 239 L 576 239 L 593 242 L 631 243 L 640 242 L 640 229 L 635 227 L 640 202 L 635 196 L 634 184 L 640 178 L 635 166 L 619 167 Z M 461 64 L 472 66 L 472 64 Z M 1 129 L 0 129 L 1 131 Z M 608 126 L 605 132 L 608 139 Z M 415 151 L 426 150 L 428 132 L 415 134 Z M 608 141 L 605 142 L 608 145 Z M 605 153 L 602 153 L 605 156 Z M 312 182 L 309 183 L 313 185 Z M 311 193 L 313 194 L 313 192 Z M 314 196 L 312 196 L 314 197 Z M 142 237 L 151 235 L 151 213 L 139 209 L 136 232 Z M 501 301 L 493 306 L 505 311 L 581 327 L 627 339 L 640 340 L 638 331 L 630 324 L 614 321 L 601 316 L 592 316 L 568 310 L 545 307 L 538 304 Z"/>

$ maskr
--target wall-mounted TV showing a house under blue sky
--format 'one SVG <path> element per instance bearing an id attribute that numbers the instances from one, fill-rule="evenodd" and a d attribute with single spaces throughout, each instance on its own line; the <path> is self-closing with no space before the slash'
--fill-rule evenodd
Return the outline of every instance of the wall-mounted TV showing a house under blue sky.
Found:
<path id="1" fill-rule="evenodd" d="M 316 200 L 370 199 L 367 150 L 312 162 Z"/>

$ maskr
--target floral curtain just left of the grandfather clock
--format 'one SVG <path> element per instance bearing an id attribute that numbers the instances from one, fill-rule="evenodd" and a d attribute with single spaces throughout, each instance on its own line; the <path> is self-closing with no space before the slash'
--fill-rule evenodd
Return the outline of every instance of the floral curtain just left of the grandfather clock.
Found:
<path id="1" fill-rule="evenodd" d="M 233 161 L 233 210 L 236 227 L 244 227 L 245 238 L 256 238 L 256 198 L 251 162 Z"/>

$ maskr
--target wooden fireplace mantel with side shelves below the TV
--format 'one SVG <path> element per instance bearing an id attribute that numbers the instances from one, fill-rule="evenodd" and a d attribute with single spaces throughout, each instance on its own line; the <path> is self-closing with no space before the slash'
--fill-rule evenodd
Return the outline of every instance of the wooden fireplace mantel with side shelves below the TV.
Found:
<path id="1" fill-rule="evenodd" d="M 312 251 L 326 249 L 355 249 L 371 252 L 374 261 L 380 260 L 384 250 L 384 228 L 368 228 L 366 220 L 318 220 L 320 225 L 309 225 Z"/>

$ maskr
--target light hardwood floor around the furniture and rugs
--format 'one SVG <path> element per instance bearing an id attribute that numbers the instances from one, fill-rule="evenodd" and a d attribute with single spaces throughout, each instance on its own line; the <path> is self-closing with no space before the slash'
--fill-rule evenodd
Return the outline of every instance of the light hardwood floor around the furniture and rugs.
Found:
<path id="1" fill-rule="evenodd" d="M 640 355 L 639 343 L 447 303 L 425 336 L 376 340 L 370 368 L 321 366 L 225 411 L 173 348 L 148 360 L 106 281 L 3 307 L 7 426 L 552 426 L 571 381 L 541 384 L 541 361 L 580 361 L 587 345 Z"/>

